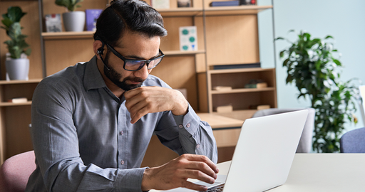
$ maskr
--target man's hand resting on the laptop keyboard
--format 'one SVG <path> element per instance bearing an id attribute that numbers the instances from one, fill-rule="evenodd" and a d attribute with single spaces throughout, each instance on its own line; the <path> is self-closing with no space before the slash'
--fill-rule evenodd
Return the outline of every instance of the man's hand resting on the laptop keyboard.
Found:
<path id="1" fill-rule="evenodd" d="M 145 169 L 142 178 L 142 191 L 168 190 L 178 187 L 206 191 L 206 186 L 191 183 L 187 181 L 187 178 L 214 183 L 217 173 L 217 166 L 207 156 L 183 154 L 163 166 Z"/>

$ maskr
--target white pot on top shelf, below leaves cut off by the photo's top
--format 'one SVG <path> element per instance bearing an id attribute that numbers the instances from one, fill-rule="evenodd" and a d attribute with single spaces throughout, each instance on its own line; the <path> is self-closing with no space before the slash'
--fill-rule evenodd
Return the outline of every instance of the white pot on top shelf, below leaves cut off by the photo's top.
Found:
<path id="1" fill-rule="evenodd" d="M 83 31 L 85 26 L 85 12 L 72 11 L 62 14 L 63 26 L 66 31 Z"/>

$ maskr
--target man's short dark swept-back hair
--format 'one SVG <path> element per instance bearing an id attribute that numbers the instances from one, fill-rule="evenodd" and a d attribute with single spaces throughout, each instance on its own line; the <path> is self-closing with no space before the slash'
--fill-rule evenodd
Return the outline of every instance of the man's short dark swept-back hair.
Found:
<path id="1" fill-rule="evenodd" d="M 96 21 L 96 33 L 110 46 L 117 46 L 125 30 L 142 33 L 148 37 L 166 36 L 163 17 L 140 0 L 113 0 Z"/>

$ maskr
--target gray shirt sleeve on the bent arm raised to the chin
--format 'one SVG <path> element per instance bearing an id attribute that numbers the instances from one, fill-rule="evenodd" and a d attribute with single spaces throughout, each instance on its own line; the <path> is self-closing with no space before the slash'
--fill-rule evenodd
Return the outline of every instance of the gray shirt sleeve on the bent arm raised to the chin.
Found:
<path id="1" fill-rule="evenodd" d="M 212 127 L 207 122 L 201 121 L 190 105 L 185 115 L 175 116 L 172 112 L 165 113 L 155 133 L 165 146 L 179 155 L 201 154 L 217 163 L 217 144 Z"/>

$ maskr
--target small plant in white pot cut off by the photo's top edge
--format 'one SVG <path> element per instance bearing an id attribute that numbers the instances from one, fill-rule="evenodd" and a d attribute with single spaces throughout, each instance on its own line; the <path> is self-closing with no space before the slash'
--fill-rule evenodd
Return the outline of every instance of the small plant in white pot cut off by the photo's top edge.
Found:
<path id="1" fill-rule="evenodd" d="M 83 31 L 85 26 L 85 12 L 75 11 L 76 8 L 81 7 L 80 2 L 83 0 L 56 0 L 58 6 L 64 6 L 68 12 L 62 14 L 63 26 L 66 31 Z"/>

